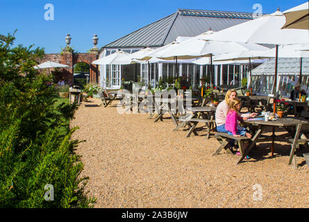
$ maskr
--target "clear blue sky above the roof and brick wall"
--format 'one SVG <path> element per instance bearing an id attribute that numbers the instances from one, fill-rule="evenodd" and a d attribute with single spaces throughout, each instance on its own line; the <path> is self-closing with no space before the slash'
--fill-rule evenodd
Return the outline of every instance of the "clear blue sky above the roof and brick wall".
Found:
<path id="1" fill-rule="evenodd" d="M 138 28 L 171 15 L 178 8 L 254 12 L 260 3 L 263 13 L 298 6 L 306 0 L 10 0 L 0 1 L 0 33 L 16 33 L 15 44 L 35 44 L 46 53 L 59 53 L 67 33 L 75 51 L 91 49 L 93 34 L 104 46 Z M 54 6 L 54 20 L 46 21 L 44 6 Z"/>

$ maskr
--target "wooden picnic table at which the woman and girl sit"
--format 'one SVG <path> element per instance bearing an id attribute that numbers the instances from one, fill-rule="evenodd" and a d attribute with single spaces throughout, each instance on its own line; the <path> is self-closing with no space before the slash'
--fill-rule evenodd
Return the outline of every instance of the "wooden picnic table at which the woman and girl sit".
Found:
<path id="1" fill-rule="evenodd" d="M 291 135 L 291 137 L 294 138 L 292 140 L 293 146 L 291 148 L 289 164 L 291 164 L 292 159 L 294 157 L 294 149 L 297 144 L 297 140 L 299 139 L 299 135 L 300 134 L 303 135 L 303 133 L 301 133 L 301 127 L 309 125 L 309 121 L 305 121 L 305 120 L 297 119 L 293 117 L 282 118 L 282 119 L 273 120 L 273 121 L 248 119 L 247 121 L 244 121 L 244 123 L 257 126 L 258 130 L 256 131 L 255 135 L 253 135 L 253 138 L 251 139 L 252 146 L 248 146 L 248 148 L 246 148 L 244 155 L 240 158 L 240 161 L 242 161 L 244 157 L 248 155 L 253 145 L 256 144 L 256 142 L 258 142 L 258 139 L 260 138 L 260 135 L 262 134 L 262 130 L 264 130 L 266 126 L 271 126 L 272 127 L 272 156 L 274 155 L 274 140 L 276 137 L 275 135 L 276 128 L 285 128 L 287 132 Z M 278 137 L 276 137 L 276 140 L 277 139 Z"/>

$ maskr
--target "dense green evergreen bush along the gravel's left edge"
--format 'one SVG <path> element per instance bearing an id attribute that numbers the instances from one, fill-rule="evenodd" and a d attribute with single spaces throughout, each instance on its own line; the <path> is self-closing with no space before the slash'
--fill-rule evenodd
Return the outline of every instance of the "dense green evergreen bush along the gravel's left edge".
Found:
<path id="1" fill-rule="evenodd" d="M 68 125 L 76 104 L 54 105 L 51 77 L 33 69 L 44 49 L 13 48 L 14 34 L 0 35 L 0 207 L 92 207 Z"/>

